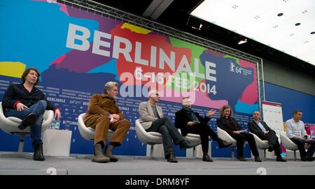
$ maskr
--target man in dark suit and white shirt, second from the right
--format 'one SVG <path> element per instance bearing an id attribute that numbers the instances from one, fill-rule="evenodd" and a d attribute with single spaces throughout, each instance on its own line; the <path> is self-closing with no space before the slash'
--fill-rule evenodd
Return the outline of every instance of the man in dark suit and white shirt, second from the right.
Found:
<path id="1" fill-rule="evenodd" d="M 260 112 L 253 112 L 253 120 L 248 123 L 248 129 L 251 133 L 254 133 L 262 140 L 267 140 L 269 143 L 268 151 L 274 151 L 276 153 L 276 161 L 286 162 L 281 157 L 281 147 L 279 144 L 276 132 L 267 126 L 265 121 L 260 120 Z"/>

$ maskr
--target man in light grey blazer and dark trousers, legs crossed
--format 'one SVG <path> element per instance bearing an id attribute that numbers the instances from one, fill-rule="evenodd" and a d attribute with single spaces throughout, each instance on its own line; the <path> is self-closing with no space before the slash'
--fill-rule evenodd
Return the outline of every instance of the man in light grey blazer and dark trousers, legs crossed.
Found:
<path id="1" fill-rule="evenodd" d="M 158 91 L 150 91 L 148 98 L 147 102 L 139 104 L 139 121 L 141 126 L 147 132 L 161 133 L 165 159 L 168 162 L 178 162 L 174 152 L 174 144 L 179 144 L 181 150 L 193 148 L 193 145 L 183 139 L 183 136 L 181 136 L 169 118 L 163 116 L 162 108 L 157 105 L 160 100 Z"/>

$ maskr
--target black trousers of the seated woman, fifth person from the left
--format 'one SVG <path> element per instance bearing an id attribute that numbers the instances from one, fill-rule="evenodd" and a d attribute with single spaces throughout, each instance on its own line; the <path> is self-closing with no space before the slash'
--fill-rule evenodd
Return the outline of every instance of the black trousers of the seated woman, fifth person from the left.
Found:
<path id="1" fill-rule="evenodd" d="M 255 157 L 259 156 L 256 142 L 253 135 L 251 135 L 250 133 L 240 133 L 240 134 L 230 133 L 230 135 L 233 139 L 236 139 L 237 141 L 237 156 L 238 157 L 244 156 L 243 147 L 244 147 L 245 140 L 248 142 L 249 147 L 251 148 L 251 153 L 253 153 L 253 156 Z"/>

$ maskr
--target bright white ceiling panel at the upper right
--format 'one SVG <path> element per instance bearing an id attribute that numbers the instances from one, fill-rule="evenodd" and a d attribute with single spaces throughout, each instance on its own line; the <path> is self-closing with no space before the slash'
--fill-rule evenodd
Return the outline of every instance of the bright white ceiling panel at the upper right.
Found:
<path id="1" fill-rule="evenodd" d="M 190 14 L 315 66 L 315 0 L 204 0 Z"/>

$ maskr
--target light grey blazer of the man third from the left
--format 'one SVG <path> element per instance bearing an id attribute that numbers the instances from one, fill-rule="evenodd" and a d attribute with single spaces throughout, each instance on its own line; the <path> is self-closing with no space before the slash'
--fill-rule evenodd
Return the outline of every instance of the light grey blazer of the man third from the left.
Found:
<path id="1" fill-rule="evenodd" d="M 158 111 L 158 115 L 160 116 L 160 118 L 162 118 L 163 117 L 162 108 L 156 104 L 155 107 L 156 110 Z M 140 116 L 139 122 L 141 123 L 141 126 L 143 126 L 145 130 L 150 128 L 152 122 L 158 119 L 154 117 L 153 109 L 149 102 L 142 102 L 139 104 L 139 116 Z"/>

